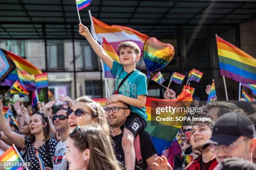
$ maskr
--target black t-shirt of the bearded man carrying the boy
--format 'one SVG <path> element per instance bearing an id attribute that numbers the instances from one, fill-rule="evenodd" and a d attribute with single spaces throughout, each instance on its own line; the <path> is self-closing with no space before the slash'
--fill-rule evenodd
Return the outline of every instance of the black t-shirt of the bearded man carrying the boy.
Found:
<path id="1" fill-rule="evenodd" d="M 121 163 L 123 163 L 123 165 L 125 165 L 124 152 L 122 148 L 122 138 L 123 138 L 123 133 L 121 133 L 120 135 L 114 136 L 113 141 L 115 142 L 114 150 L 115 150 L 116 158 Z M 140 143 L 141 143 L 141 157 L 142 157 L 143 163 L 142 165 L 139 165 L 138 161 L 136 160 L 135 170 L 141 170 L 141 168 L 143 170 L 146 170 L 146 167 L 147 167 L 146 160 L 156 153 L 156 149 L 152 143 L 150 135 L 144 130 L 140 133 Z"/>

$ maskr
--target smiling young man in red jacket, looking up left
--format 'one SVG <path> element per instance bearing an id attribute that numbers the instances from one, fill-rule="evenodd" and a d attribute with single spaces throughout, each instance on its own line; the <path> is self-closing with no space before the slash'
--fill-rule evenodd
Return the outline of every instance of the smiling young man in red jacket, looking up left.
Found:
<path id="1" fill-rule="evenodd" d="M 210 147 L 202 146 L 211 138 L 214 122 L 192 122 L 190 143 L 192 147 L 200 151 L 199 155 L 192 163 L 189 163 L 185 170 L 213 170 L 218 164 L 215 155 Z"/>

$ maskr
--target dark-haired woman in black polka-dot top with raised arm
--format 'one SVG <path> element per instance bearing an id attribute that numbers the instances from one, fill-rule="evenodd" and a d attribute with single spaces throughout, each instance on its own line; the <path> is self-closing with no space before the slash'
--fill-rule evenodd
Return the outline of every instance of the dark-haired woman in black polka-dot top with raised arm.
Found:
<path id="1" fill-rule="evenodd" d="M 18 147 L 26 151 L 24 161 L 31 161 L 30 170 L 40 170 L 39 161 L 36 157 L 38 151 L 45 167 L 51 167 L 51 156 L 54 156 L 57 141 L 51 139 L 49 133 L 49 121 L 46 115 L 41 112 L 34 113 L 29 120 L 31 138 L 14 133 L 5 121 L 3 114 L 3 104 L 0 101 L 0 125 L 5 135 Z"/>

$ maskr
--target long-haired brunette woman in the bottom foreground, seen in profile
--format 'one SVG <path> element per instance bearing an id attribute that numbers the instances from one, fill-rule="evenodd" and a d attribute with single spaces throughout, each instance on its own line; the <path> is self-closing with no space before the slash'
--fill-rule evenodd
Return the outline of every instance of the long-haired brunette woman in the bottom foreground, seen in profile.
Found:
<path id="1" fill-rule="evenodd" d="M 69 170 L 120 170 L 110 137 L 98 124 L 77 126 L 67 138 L 64 158 Z"/>

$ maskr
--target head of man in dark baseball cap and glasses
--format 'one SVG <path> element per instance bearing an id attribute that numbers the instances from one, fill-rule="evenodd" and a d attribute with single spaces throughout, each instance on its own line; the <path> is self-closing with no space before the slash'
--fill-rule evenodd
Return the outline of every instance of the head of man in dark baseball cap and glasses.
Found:
<path id="1" fill-rule="evenodd" d="M 255 136 L 255 128 L 248 117 L 230 112 L 220 116 L 213 127 L 212 137 L 203 148 L 211 144 L 218 163 L 225 158 L 243 158 L 252 162 Z"/>

